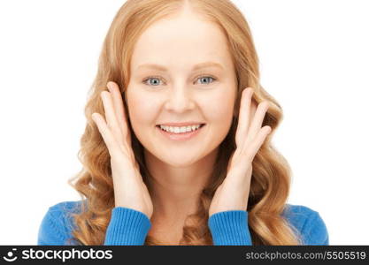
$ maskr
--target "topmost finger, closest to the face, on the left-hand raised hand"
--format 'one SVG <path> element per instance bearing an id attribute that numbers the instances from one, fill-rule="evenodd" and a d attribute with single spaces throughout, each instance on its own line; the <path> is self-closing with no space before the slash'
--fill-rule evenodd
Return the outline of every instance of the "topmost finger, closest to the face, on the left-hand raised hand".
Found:
<path id="1" fill-rule="evenodd" d="M 127 116 L 124 110 L 123 99 L 122 95 L 120 94 L 119 86 L 117 83 L 109 81 L 107 87 L 111 92 L 112 102 L 120 130 L 123 136 L 127 136 L 128 135 Z"/>

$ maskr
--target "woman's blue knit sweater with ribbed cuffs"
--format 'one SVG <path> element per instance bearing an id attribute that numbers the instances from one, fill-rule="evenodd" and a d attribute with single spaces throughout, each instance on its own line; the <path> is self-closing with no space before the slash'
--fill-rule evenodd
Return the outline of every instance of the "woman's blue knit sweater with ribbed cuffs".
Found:
<path id="1" fill-rule="evenodd" d="M 66 239 L 72 237 L 75 223 L 69 214 L 79 210 L 81 201 L 64 201 L 51 206 L 43 216 L 37 245 L 70 245 Z M 304 245 L 329 244 L 326 224 L 318 212 L 301 205 L 286 204 L 282 216 L 300 234 Z M 252 245 L 247 211 L 230 210 L 213 214 L 208 219 L 208 226 L 214 245 Z M 142 212 L 132 208 L 113 208 L 104 245 L 143 245 L 150 227 L 150 219 Z"/>

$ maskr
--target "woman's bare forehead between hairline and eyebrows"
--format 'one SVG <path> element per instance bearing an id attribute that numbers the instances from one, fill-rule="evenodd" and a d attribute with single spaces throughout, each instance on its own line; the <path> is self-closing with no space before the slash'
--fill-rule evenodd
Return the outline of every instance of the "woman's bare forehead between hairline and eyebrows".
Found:
<path id="1" fill-rule="evenodd" d="M 214 23 L 182 15 L 160 19 L 142 32 L 135 43 L 131 69 L 138 70 L 142 64 L 162 64 L 192 70 L 195 64 L 204 62 L 223 68 L 232 64 L 226 36 Z"/>

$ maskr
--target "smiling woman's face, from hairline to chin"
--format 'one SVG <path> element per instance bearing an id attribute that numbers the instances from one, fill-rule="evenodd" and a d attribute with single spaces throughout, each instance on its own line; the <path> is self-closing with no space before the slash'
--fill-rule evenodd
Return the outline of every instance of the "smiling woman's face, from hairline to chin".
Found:
<path id="1" fill-rule="evenodd" d="M 216 151 L 236 95 L 234 65 L 218 27 L 192 13 L 157 21 L 136 42 L 130 69 L 127 107 L 145 155 L 184 167 Z M 166 127 L 173 133 L 159 127 L 176 123 L 204 126 L 189 138 L 182 125 Z"/>

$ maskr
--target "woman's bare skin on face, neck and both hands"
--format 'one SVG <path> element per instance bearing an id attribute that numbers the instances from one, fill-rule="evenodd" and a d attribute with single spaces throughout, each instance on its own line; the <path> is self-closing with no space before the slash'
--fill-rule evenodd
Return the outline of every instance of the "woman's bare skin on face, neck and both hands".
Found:
<path id="1" fill-rule="evenodd" d="M 223 68 L 191 71 L 195 64 L 206 61 Z M 167 71 L 138 67 L 150 63 L 164 65 Z M 106 122 L 98 113 L 92 118 L 111 154 L 116 206 L 142 211 L 153 224 L 151 235 L 163 238 L 166 232 L 170 236 L 165 240 L 178 242 L 183 221 L 196 210 L 198 195 L 232 122 L 234 65 L 219 28 L 185 9 L 180 16 L 157 21 L 143 32 L 130 67 L 128 116 L 145 148 L 145 162 L 153 178 L 148 189 L 131 148 L 119 87 L 109 82 L 109 92 L 101 94 Z M 155 77 L 148 79 L 150 76 Z M 228 163 L 227 177 L 211 201 L 209 216 L 225 210 L 247 210 L 251 163 L 271 131 L 270 126 L 261 128 L 268 103 L 261 102 L 257 108 L 251 100 L 252 92 L 251 87 L 243 90 L 237 148 Z M 156 127 L 191 120 L 206 125 L 195 138 L 182 142 L 165 139 Z"/>

